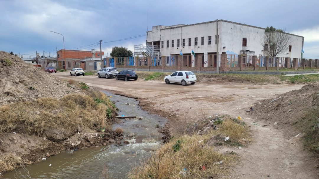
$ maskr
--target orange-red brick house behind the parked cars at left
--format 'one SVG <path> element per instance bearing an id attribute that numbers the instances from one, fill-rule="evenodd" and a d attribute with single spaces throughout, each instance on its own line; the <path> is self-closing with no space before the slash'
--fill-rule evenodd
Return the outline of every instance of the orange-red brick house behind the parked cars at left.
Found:
<path id="1" fill-rule="evenodd" d="M 104 52 L 102 52 L 102 56 Z M 66 61 L 66 69 L 70 70 L 72 68 L 79 67 L 79 63 L 81 60 L 87 58 L 100 58 L 100 52 L 95 52 L 94 49 L 92 51 L 83 51 L 83 50 L 59 50 L 56 53 L 56 57 L 58 60 L 58 68 L 64 68 L 64 58 Z"/>

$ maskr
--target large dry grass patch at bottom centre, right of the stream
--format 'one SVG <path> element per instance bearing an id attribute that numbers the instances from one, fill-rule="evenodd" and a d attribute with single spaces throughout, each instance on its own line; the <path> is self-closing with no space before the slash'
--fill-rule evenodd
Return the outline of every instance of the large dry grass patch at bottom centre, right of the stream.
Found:
<path id="1" fill-rule="evenodd" d="M 214 147 L 206 145 L 208 139 L 208 135 L 177 137 L 164 144 L 142 166 L 131 171 L 129 178 L 209 178 L 218 176 L 225 172 L 225 167 L 234 161 L 236 155 L 221 154 L 215 151 Z M 179 146 L 177 151 L 176 146 Z M 223 163 L 214 165 L 219 161 Z M 185 176 L 180 174 L 184 168 L 187 172 Z"/>

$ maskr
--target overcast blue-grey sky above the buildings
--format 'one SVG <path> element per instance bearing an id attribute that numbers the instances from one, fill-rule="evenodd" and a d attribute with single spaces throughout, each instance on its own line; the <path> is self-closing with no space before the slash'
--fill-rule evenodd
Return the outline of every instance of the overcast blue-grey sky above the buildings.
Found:
<path id="1" fill-rule="evenodd" d="M 155 25 L 194 24 L 216 19 L 286 28 L 304 36 L 304 57 L 319 58 L 318 0 L 0 0 L 0 50 L 35 56 L 57 49 L 99 50 L 95 44 L 145 35 Z M 147 15 L 148 14 L 148 21 Z M 147 26 L 148 22 L 148 26 Z M 103 43 L 134 50 L 146 37 Z M 91 45 L 94 44 L 94 45 Z M 90 45 L 90 46 L 86 46 Z M 34 50 L 35 49 L 35 50 Z"/>

